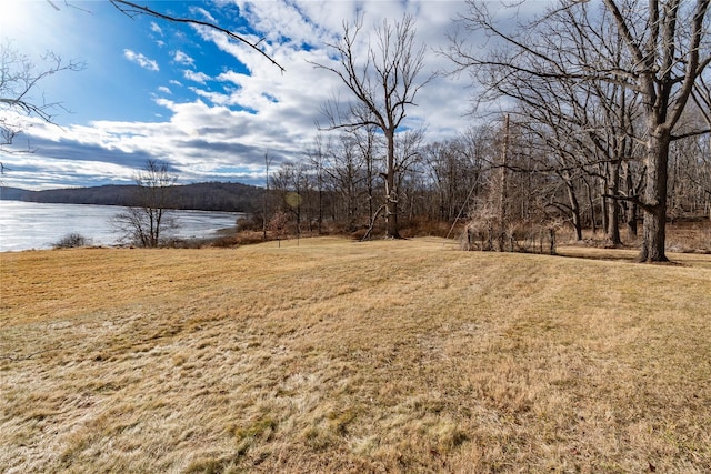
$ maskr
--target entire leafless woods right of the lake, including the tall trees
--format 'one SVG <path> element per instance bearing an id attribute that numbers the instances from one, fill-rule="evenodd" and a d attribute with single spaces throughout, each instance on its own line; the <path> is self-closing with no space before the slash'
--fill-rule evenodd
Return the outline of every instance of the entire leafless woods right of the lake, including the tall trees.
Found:
<path id="1" fill-rule="evenodd" d="M 584 230 L 612 246 L 639 235 L 640 261 L 665 261 L 667 221 L 711 215 L 709 2 L 561 1 L 513 31 L 502 18 L 515 8 L 490 8 L 465 2 L 441 51 L 475 91 L 470 130 L 447 140 L 401 127 L 415 94 L 434 93 L 415 80 L 425 64 L 411 19 L 385 24 L 360 58 L 359 24 L 344 24 L 340 67 L 319 67 L 352 101 L 324 107 L 337 133 L 319 138 L 321 161 L 304 152 L 272 177 L 274 192 L 301 196 L 296 225 L 328 215 L 393 236 L 463 219 L 469 243 L 489 250 Z"/>

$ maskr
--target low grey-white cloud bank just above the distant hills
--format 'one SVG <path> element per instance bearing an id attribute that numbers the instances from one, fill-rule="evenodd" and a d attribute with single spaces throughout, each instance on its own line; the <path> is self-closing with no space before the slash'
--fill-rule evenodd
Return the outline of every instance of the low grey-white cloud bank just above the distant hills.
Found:
<path id="1" fill-rule="evenodd" d="M 68 181 L 69 185 L 131 183 L 150 158 L 171 163 L 181 182 L 240 180 L 261 185 L 264 153 L 277 165 L 299 155 L 304 147 L 301 139 L 307 135 L 293 133 L 287 123 L 261 123 L 249 111 L 201 100 L 158 98 L 156 102 L 169 111 L 170 120 L 94 121 L 61 129 L 33 120 L 31 145 L 36 152 L 12 154 L 7 161 L 3 158 L 13 170 L 3 177 L 4 184 L 40 189 L 62 188 Z M 290 139 L 277 144 L 274 137 Z M 31 179 L 40 172 L 47 178 Z"/>

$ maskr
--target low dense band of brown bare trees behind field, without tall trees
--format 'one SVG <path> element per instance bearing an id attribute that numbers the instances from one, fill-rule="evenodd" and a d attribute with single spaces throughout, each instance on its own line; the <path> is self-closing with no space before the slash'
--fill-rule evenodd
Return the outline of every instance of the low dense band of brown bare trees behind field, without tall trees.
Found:
<path id="1" fill-rule="evenodd" d="M 551 148 L 551 140 L 528 121 L 510 120 L 507 127 L 505 117 L 442 141 L 428 142 L 422 131 L 399 135 L 394 184 L 400 230 L 452 235 L 451 225 L 459 222 L 455 235 L 464 232 L 471 248 L 484 250 L 525 249 L 541 232 L 550 239 L 551 231 L 562 228 L 578 240 L 591 231 L 611 245 L 640 235 L 640 205 L 615 196 L 640 194 L 643 145 L 631 144 L 629 159 L 608 160 L 580 149 Z M 670 221 L 711 216 L 709 150 L 708 134 L 671 147 Z M 378 211 L 387 200 L 385 157 L 385 143 L 372 129 L 319 135 L 301 160 L 270 175 L 267 219 L 287 214 L 294 234 L 337 230 L 384 235 Z"/>

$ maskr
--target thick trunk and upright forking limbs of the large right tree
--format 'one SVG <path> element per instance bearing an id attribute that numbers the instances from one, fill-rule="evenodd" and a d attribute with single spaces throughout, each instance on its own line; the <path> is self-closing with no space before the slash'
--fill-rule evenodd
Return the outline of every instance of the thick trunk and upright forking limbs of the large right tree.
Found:
<path id="1" fill-rule="evenodd" d="M 690 6 L 691 3 L 691 6 Z M 667 261 L 667 189 L 669 149 L 694 83 L 711 63 L 709 0 L 650 0 L 648 6 L 604 0 L 632 58 L 612 77 L 642 97 L 647 132 L 644 211 L 640 260 Z M 643 21 L 645 28 L 639 28 Z M 692 133 L 708 133 L 709 130 Z"/>

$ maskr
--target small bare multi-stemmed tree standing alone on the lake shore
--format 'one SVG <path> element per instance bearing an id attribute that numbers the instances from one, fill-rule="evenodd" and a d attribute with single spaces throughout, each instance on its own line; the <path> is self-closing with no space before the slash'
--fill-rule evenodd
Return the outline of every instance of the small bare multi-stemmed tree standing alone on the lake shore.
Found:
<path id="1" fill-rule="evenodd" d="M 148 160 L 134 180 L 134 204 L 117 214 L 112 225 L 123 240 L 132 244 L 159 246 L 164 233 L 177 226 L 169 212 L 174 205 L 171 202 L 171 186 L 178 178 L 170 172 L 167 163 Z"/>

